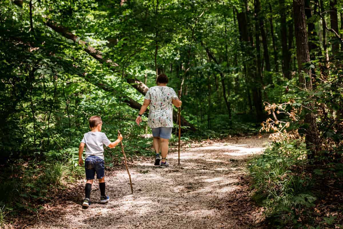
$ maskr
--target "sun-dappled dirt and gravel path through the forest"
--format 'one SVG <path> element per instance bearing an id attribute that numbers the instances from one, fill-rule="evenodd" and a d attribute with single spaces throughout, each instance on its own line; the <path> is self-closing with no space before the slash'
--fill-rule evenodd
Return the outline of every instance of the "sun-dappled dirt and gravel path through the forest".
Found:
<path id="1" fill-rule="evenodd" d="M 135 162 L 130 167 L 133 195 L 126 170 L 112 171 L 106 176 L 110 202 L 99 203 L 94 182 L 88 209 L 80 205 L 80 181 L 69 200 L 49 206 L 26 228 L 260 228 L 261 209 L 250 202 L 245 175 L 247 161 L 266 141 L 253 136 L 204 142 L 184 149 L 180 165 L 177 152 L 170 153 L 170 167 L 163 169 L 155 168 L 152 159 Z"/>

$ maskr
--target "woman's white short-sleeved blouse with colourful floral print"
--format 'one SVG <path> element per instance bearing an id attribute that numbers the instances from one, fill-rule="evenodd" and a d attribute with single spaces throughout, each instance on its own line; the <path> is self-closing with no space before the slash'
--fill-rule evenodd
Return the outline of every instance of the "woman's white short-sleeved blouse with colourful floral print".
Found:
<path id="1" fill-rule="evenodd" d="M 173 127 L 172 99 L 178 99 L 174 89 L 167 86 L 151 87 L 145 99 L 150 100 L 148 125 L 151 128 Z"/>

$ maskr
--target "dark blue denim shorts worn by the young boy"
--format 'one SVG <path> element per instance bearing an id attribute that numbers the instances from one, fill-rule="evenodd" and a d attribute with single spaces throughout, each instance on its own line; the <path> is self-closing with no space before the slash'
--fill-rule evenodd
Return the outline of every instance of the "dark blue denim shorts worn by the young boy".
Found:
<path id="1" fill-rule="evenodd" d="M 97 156 L 88 156 L 85 160 L 86 180 L 93 180 L 96 172 L 96 179 L 105 176 L 104 160 Z"/>

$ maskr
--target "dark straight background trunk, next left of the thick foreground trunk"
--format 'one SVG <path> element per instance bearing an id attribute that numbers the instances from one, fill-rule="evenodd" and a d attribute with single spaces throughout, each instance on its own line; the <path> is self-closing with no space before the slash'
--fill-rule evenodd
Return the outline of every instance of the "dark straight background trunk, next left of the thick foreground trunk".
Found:
<path id="1" fill-rule="evenodd" d="M 280 9 L 280 21 L 281 21 L 281 46 L 282 46 L 282 72 L 284 77 L 291 79 L 289 72 L 290 59 L 289 50 L 287 47 L 287 21 L 286 21 L 286 10 L 285 0 L 279 0 Z"/>

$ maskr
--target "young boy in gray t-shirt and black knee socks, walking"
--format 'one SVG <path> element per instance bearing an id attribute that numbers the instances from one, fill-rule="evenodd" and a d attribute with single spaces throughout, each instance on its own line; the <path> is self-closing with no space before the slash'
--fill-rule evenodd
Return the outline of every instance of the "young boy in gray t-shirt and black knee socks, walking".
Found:
<path id="1" fill-rule="evenodd" d="M 85 170 L 86 170 L 86 197 L 82 206 L 89 207 L 91 204 L 90 195 L 92 190 L 92 184 L 96 172 L 96 178 L 99 179 L 100 188 L 100 203 L 107 203 L 109 196 L 105 195 L 105 166 L 104 166 L 104 144 L 110 148 L 114 148 L 123 139 L 122 135 L 118 136 L 118 139 L 111 142 L 106 137 L 105 133 L 101 132 L 103 122 L 100 116 L 92 116 L 89 119 L 89 127 L 91 131 L 85 133 L 79 146 L 79 165 L 83 164 L 82 153 L 83 148 L 86 145 L 85 156 Z"/>

